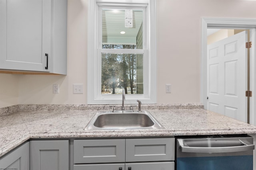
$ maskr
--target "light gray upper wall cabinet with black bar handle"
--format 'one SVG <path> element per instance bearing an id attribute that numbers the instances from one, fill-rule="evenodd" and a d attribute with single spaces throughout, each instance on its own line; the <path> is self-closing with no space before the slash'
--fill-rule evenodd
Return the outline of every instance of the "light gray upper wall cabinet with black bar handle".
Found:
<path id="1" fill-rule="evenodd" d="M 0 69 L 66 74 L 67 0 L 0 0 Z"/>

